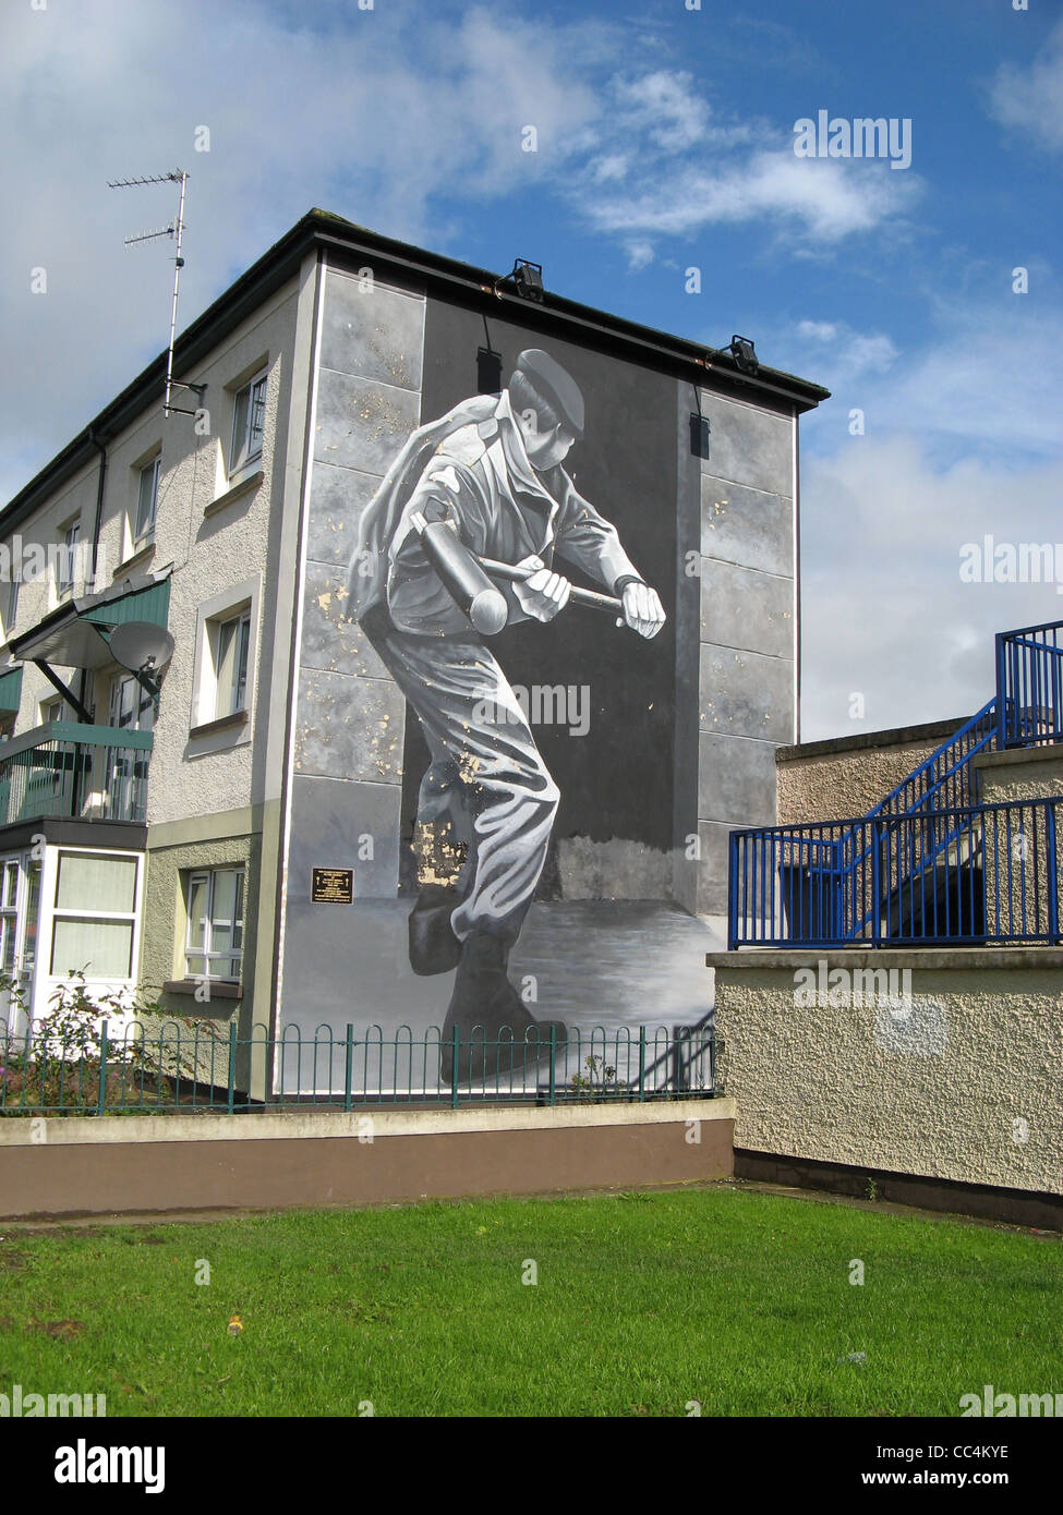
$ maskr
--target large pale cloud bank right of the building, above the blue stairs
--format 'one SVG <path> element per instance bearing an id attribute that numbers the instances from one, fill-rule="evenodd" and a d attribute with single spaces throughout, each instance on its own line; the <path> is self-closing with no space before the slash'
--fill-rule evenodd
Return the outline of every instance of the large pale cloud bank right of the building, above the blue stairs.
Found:
<path id="1" fill-rule="evenodd" d="M 1063 618 L 1054 583 L 960 579 L 961 547 L 984 535 L 1063 542 L 1063 465 L 940 470 L 893 436 L 852 438 L 802 473 L 802 739 L 974 715 L 993 694 L 993 633 Z"/>

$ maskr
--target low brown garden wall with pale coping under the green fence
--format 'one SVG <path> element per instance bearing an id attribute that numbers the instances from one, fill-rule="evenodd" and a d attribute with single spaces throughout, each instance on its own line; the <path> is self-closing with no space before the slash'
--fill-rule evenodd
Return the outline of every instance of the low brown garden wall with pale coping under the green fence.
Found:
<path id="1" fill-rule="evenodd" d="M 652 1188 L 734 1173 L 731 1098 L 0 1120 L 0 1218 Z"/>

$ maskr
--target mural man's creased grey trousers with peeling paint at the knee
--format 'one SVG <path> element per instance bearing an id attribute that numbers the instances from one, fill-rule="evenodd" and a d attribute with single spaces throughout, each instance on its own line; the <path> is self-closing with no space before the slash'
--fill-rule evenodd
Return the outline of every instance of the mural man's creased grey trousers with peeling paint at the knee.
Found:
<path id="1" fill-rule="evenodd" d="M 432 754 L 419 820 L 453 801 L 473 820 L 472 886 L 450 926 L 514 942 L 546 862 L 560 792 L 496 658 L 476 635 L 412 636 L 384 617 L 362 623 L 417 711 Z"/>

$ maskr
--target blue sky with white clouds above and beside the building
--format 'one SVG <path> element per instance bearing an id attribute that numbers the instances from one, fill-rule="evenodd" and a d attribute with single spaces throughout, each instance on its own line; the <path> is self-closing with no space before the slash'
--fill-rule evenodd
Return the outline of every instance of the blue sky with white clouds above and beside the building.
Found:
<path id="1" fill-rule="evenodd" d="M 173 195 L 105 180 L 180 165 L 182 326 L 323 206 L 826 385 L 802 735 L 970 712 L 992 632 L 1063 618 L 960 579 L 990 533 L 1063 585 L 1063 3 L 1021 3 L 5 0 L 0 497 L 165 344 L 170 247 L 123 236 Z M 910 120 L 910 167 L 798 158 L 819 111 Z"/>

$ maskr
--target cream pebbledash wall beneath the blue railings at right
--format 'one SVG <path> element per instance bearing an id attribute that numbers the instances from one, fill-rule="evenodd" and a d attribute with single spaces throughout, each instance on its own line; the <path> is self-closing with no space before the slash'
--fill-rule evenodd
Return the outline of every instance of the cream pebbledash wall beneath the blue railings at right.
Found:
<path id="1" fill-rule="evenodd" d="M 986 803 L 1063 795 L 1055 747 L 984 753 L 975 767 Z M 1043 838 L 1036 847 L 1043 898 Z M 1060 874 L 1055 889 L 1063 906 Z M 738 1173 L 808 1162 L 811 1182 L 826 1165 L 1063 1195 L 1063 948 L 742 950 L 708 964 Z M 1030 1215 L 1014 1195 L 980 1203 Z"/>

